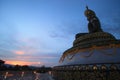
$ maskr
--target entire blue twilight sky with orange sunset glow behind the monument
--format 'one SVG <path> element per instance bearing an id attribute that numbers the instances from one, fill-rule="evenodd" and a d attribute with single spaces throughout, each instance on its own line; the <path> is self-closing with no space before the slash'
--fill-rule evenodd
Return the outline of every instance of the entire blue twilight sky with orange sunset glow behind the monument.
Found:
<path id="1" fill-rule="evenodd" d="M 7 64 L 55 66 L 88 32 L 86 4 L 102 29 L 120 38 L 120 0 L 0 0 L 0 59 Z"/>

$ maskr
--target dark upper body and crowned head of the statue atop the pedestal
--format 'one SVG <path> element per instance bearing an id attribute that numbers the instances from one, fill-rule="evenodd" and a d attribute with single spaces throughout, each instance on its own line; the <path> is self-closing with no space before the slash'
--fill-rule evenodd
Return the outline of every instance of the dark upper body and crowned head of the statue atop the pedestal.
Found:
<path id="1" fill-rule="evenodd" d="M 99 19 L 96 17 L 96 14 L 94 11 L 88 9 L 88 6 L 86 7 L 85 16 L 87 17 L 88 23 L 88 30 L 89 33 L 95 33 L 95 32 L 103 32 L 101 29 L 101 24 Z"/>

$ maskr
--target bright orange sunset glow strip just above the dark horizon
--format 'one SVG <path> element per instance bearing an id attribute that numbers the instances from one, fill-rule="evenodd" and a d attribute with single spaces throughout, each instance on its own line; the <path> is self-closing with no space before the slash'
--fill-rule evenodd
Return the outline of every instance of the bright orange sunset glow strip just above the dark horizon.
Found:
<path id="1" fill-rule="evenodd" d="M 41 62 L 28 62 L 28 61 L 6 61 L 6 64 L 11 65 L 41 65 Z"/>

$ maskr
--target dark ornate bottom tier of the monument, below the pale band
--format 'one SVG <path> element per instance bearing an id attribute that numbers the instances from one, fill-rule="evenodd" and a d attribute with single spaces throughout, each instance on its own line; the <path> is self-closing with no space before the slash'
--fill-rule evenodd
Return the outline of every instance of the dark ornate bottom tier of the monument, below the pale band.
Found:
<path id="1" fill-rule="evenodd" d="M 120 64 L 56 66 L 52 75 L 55 80 L 120 80 Z"/>

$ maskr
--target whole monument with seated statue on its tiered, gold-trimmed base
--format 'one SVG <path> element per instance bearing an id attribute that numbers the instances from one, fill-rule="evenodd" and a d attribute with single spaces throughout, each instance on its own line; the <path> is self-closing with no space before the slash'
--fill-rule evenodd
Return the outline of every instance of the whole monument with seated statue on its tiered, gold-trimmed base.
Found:
<path id="1" fill-rule="evenodd" d="M 93 10 L 84 14 L 89 32 L 76 34 L 53 68 L 55 80 L 120 80 L 120 40 L 103 31 Z"/>

